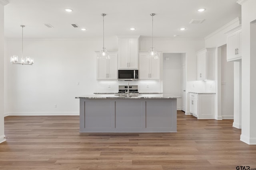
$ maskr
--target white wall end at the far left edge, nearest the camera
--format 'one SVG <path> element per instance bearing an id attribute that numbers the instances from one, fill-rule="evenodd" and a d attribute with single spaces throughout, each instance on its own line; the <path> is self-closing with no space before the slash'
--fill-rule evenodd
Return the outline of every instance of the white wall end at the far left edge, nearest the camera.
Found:
<path id="1" fill-rule="evenodd" d="M 4 6 L 0 3 L 0 143 L 4 137 Z"/>

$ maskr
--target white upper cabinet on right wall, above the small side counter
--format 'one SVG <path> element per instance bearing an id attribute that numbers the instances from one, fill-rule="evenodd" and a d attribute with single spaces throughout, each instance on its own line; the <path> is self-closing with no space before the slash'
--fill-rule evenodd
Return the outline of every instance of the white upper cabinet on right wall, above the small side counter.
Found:
<path id="1" fill-rule="evenodd" d="M 197 80 L 214 80 L 214 51 L 215 48 L 204 48 L 196 53 Z"/>

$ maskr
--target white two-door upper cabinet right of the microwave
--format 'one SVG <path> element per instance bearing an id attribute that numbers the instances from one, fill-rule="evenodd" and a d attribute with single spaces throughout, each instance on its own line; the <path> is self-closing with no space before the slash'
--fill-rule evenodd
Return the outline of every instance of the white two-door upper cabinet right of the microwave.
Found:
<path id="1" fill-rule="evenodd" d="M 160 79 L 160 58 L 149 58 L 148 51 L 139 52 L 139 79 L 140 80 L 159 80 Z"/>

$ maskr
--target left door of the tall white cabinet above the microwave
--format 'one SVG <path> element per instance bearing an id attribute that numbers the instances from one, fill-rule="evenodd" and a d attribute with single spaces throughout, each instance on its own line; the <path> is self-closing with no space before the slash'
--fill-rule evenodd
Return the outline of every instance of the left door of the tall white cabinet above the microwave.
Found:
<path id="1" fill-rule="evenodd" d="M 128 68 L 128 39 L 118 40 L 118 68 Z"/>

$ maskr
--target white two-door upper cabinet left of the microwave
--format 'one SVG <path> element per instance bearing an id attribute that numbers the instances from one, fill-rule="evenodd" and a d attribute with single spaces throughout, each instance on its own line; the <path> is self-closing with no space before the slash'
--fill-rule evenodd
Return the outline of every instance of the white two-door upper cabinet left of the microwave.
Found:
<path id="1" fill-rule="evenodd" d="M 97 57 L 99 52 L 97 53 Z M 109 51 L 110 59 L 97 59 L 97 79 L 117 80 L 117 51 Z"/>

